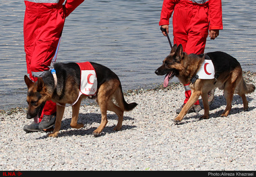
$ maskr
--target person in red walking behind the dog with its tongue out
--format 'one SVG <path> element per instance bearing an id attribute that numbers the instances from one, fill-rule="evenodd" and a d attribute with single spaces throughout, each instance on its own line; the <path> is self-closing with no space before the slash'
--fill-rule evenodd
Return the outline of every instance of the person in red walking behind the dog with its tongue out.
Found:
<path id="1" fill-rule="evenodd" d="M 159 25 L 168 32 L 169 19 L 172 15 L 174 44 L 182 44 L 187 54 L 203 54 L 207 36 L 214 40 L 219 35 L 222 25 L 221 0 L 164 0 Z M 162 32 L 166 36 L 165 32 Z M 189 83 L 185 86 L 185 101 L 191 96 Z M 210 102 L 214 100 L 214 90 L 210 93 Z M 177 113 L 181 111 L 177 109 Z M 191 111 L 199 112 L 199 100 Z"/>

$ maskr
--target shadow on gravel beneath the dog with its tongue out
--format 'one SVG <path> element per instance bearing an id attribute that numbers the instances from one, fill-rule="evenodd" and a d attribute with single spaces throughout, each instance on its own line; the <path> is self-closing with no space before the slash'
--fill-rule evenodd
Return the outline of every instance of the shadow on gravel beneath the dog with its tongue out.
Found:
<path id="1" fill-rule="evenodd" d="M 254 110 L 256 108 L 256 106 L 250 106 L 250 102 L 251 100 L 253 100 L 253 98 L 247 97 L 247 101 L 249 102 L 249 109 L 250 110 Z M 199 100 L 201 107 L 203 108 L 203 103 L 201 102 L 201 99 Z M 232 107 L 235 104 L 242 104 L 242 106 L 240 108 L 231 108 L 230 112 L 228 115 L 232 115 L 232 114 L 237 114 L 239 112 L 243 112 L 243 100 L 240 96 L 238 95 L 234 95 L 233 100 L 232 100 Z M 226 99 L 224 98 L 224 96 L 214 96 L 214 102 L 212 103 L 212 105 L 210 105 L 210 111 L 211 110 L 216 110 L 222 106 L 225 106 L 224 109 L 226 108 Z M 218 110 L 216 112 L 212 111 L 210 112 L 210 118 L 218 118 L 220 117 L 220 115 L 224 112 L 223 110 Z M 189 116 L 189 114 L 186 114 L 185 117 L 183 118 L 183 120 L 181 122 L 175 123 L 176 125 L 183 125 L 189 122 L 196 122 L 198 120 L 203 120 L 200 119 L 201 116 L 203 116 L 203 112 L 204 110 L 201 110 L 199 113 L 194 114 L 193 116 Z"/>

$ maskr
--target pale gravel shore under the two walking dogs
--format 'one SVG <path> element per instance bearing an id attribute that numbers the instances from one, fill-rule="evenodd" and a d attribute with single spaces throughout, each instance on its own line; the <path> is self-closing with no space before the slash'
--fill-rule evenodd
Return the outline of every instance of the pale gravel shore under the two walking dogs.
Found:
<path id="1" fill-rule="evenodd" d="M 245 76 L 256 83 L 255 73 Z M 82 129 L 71 129 L 71 108 L 66 108 L 58 138 L 25 133 L 24 125 L 32 121 L 25 109 L 1 111 L 0 170 L 255 170 L 256 92 L 247 95 L 249 111 L 236 95 L 228 117 L 220 117 L 226 100 L 217 89 L 209 119 L 199 120 L 201 110 L 175 125 L 183 92 L 179 83 L 127 92 L 125 100 L 138 106 L 125 112 L 118 132 L 113 131 L 117 116 L 108 112 L 100 137 L 92 135 L 100 124 L 96 104 L 80 108 Z"/>

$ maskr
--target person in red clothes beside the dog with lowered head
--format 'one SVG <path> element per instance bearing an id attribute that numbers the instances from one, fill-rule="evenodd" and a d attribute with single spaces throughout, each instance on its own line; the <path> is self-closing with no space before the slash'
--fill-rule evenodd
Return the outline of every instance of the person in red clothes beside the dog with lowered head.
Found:
<path id="1" fill-rule="evenodd" d="M 27 0 L 24 1 L 24 49 L 30 79 L 37 81 L 49 70 L 55 55 L 65 18 L 84 0 Z M 25 125 L 24 131 L 34 132 L 53 127 L 56 104 L 46 102 L 39 120 Z"/>

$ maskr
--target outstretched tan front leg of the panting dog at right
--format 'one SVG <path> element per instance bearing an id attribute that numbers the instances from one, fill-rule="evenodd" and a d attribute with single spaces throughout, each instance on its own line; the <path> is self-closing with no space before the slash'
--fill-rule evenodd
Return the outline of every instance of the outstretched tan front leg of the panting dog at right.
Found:
<path id="1" fill-rule="evenodd" d="M 193 106 L 193 104 L 195 104 L 195 102 L 197 102 L 200 95 L 201 95 L 200 91 L 193 92 L 191 94 L 191 97 L 189 98 L 185 106 L 182 108 L 179 115 L 176 118 L 174 118 L 174 122 L 181 122 L 181 120 L 183 120 L 184 116 L 187 114 L 189 109 Z"/>

